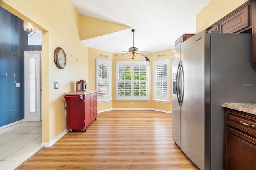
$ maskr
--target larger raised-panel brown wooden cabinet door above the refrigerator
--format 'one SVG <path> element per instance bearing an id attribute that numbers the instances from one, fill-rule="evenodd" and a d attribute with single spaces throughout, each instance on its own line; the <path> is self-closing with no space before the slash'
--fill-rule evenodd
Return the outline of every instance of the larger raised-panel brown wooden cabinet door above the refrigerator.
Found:
<path id="1" fill-rule="evenodd" d="M 248 6 L 220 22 L 221 33 L 234 33 L 248 27 Z"/>

